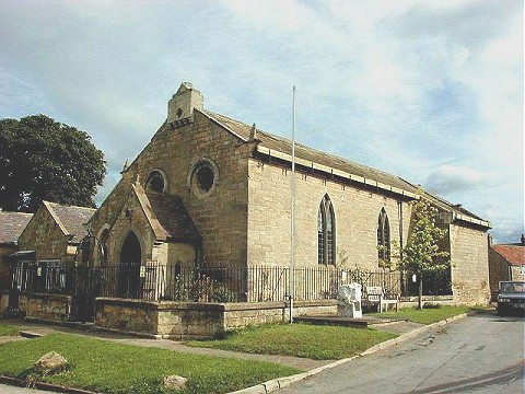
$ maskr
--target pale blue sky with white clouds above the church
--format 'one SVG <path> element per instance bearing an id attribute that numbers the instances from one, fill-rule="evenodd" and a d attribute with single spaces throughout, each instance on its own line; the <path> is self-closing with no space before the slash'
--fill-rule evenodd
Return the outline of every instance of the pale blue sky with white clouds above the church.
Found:
<path id="1" fill-rule="evenodd" d="M 524 232 L 522 0 L 0 0 L 0 118 L 88 131 L 113 188 L 182 81 L 205 107 Z"/>

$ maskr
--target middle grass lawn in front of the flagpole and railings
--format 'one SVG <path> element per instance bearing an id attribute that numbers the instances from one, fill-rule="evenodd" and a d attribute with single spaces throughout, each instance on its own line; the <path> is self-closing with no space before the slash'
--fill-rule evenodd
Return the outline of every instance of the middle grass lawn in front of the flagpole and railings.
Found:
<path id="1" fill-rule="evenodd" d="M 277 324 L 229 333 L 221 340 L 189 341 L 187 345 L 250 354 L 335 360 L 352 357 L 396 335 L 372 329 L 310 324 Z"/>

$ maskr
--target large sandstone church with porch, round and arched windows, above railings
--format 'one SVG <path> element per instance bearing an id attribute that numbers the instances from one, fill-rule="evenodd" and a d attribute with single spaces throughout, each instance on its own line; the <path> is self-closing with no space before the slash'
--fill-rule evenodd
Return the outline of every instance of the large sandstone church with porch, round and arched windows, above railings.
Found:
<path id="1" fill-rule="evenodd" d="M 299 143 L 295 157 L 298 267 L 378 269 L 393 258 L 393 241 L 406 244 L 417 186 Z M 199 91 L 183 83 L 166 120 L 91 219 L 104 260 L 288 266 L 291 160 L 290 140 L 205 109 Z M 490 224 L 423 197 L 448 230 L 455 301 L 487 302 Z"/>

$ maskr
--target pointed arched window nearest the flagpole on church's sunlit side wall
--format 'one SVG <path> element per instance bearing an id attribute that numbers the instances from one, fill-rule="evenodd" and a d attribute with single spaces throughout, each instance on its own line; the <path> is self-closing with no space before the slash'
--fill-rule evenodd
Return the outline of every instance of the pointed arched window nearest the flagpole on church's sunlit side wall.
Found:
<path id="1" fill-rule="evenodd" d="M 325 195 L 317 213 L 317 263 L 336 265 L 336 220 L 330 197 Z"/>

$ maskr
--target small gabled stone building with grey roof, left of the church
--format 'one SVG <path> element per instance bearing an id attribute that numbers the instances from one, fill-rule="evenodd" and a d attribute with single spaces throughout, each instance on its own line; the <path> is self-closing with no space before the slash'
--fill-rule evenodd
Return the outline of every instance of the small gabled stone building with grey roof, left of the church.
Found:
<path id="1" fill-rule="evenodd" d="M 35 252 L 34 260 L 71 263 L 95 209 L 43 201 L 19 237 L 20 253 Z"/>

